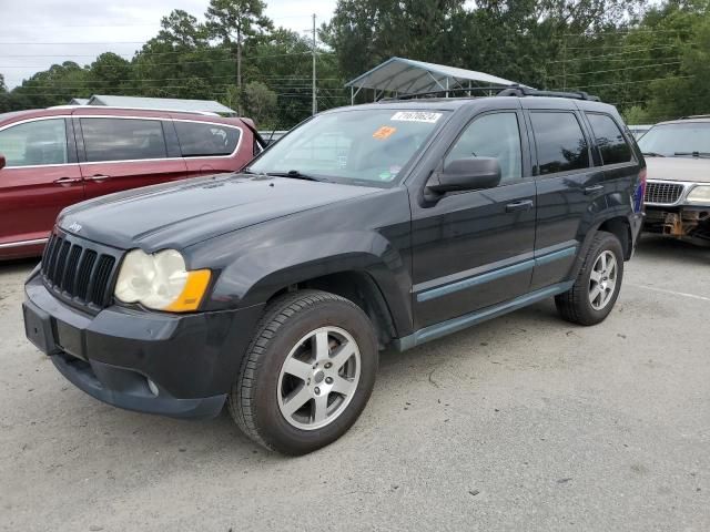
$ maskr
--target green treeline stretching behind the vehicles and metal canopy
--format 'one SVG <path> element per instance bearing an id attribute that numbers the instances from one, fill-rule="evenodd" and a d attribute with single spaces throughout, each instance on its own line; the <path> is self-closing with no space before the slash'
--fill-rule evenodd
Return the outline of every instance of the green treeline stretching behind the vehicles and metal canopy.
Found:
<path id="1" fill-rule="evenodd" d="M 313 44 L 265 7 L 211 0 L 204 23 L 174 10 L 130 60 L 67 61 L 12 91 L 0 75 L 0 112 L 91 94 L 211 99 L 291 127 L 311 115 Z M 397 55 L 587 91 L 631 123 L 710 113 L 710 0 L 338 0 L 318 37 L 318 110 L 348 104 L 345 82 Z"/>

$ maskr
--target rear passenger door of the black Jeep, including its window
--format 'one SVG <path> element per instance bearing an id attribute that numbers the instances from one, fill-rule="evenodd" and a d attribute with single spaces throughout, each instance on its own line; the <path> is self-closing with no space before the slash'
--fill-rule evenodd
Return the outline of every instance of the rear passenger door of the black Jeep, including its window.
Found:
<path id="1" fill-rule="evenodd" d="M 580 113 L 571 101 L 566 109 L 540 109 L 545 103 L 524 101 L 524 105 L 534 106 L 527 114 L 537 154 L 531 289 L 568 277 L 589 221 L 606 207 L 604 173 L 592 167 L 589 136 Z"/>

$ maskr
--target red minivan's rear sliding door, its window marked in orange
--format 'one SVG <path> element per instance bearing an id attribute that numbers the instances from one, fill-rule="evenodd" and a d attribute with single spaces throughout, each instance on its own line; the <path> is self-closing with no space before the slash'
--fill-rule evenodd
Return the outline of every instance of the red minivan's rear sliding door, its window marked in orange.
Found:
<path id="1" fill-rule="evenodd" d="M 171 121 L 155 117 L 75 116 L 87 197 L 186 176 L 171 141 Z"/>

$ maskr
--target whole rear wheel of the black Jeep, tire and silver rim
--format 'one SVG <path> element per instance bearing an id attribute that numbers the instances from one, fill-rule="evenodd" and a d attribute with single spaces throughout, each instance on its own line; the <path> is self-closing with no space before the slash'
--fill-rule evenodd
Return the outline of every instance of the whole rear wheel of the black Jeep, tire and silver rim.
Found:
<path id="1" fill-rule="evenodd" d="M 579 325 L 597 325 L 611 313 L 623 278 L 623 250 L 611 233 L 594 237 L 575 285 L 555 298 L 562 318 Z"/>

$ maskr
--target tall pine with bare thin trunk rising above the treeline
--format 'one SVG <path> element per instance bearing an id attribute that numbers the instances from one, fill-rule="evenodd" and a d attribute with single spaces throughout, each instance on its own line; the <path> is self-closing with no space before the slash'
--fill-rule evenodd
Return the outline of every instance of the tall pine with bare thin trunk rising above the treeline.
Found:
<path id="1" fill-rule="evenodd" d="M 264 14 L 266 3 L 261 0 L 210 0 L 205 13 L 207 30 L 225 45 L 236 47 L 236 86 L 242 88 L 242 47 L 264 30 L 273 29 L 273 22 Z"/>

